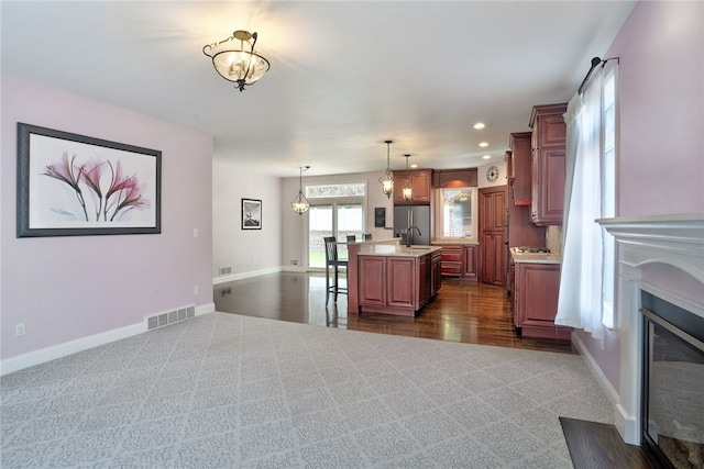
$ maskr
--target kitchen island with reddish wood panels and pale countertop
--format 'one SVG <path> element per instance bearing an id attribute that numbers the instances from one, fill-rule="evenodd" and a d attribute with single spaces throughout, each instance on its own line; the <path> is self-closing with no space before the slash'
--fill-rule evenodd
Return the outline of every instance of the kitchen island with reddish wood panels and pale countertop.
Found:
<path id="1" fill-rule="evenodd" d="M 367 242 L 348 250 L 348 313 L 415 316 L 440 289 L 439 246 Z"/>

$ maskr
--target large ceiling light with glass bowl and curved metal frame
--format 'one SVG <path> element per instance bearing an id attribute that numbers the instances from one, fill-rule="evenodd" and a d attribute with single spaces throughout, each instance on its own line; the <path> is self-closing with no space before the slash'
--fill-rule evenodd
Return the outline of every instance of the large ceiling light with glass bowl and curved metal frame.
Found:
<path id="1" fill-rule="evenodd" d="M 202 53 L 212 58 L 212 66 L 222 78 L 244 91 L 244 87 L 254 85 L 270 67 L 268 60 L 254 52 L 254 44 L 256 33 L 235 31 L 230 37 L 204 46 Z"/>

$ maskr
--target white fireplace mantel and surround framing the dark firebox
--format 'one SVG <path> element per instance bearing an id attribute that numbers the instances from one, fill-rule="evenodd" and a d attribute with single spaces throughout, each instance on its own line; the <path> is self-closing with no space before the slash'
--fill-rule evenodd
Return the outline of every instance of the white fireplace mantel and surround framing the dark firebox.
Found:
<path id="1" fill-rule="evenodd" d="M 622 344 L 615 423 L 626 443 L 639 445 L 641 292 L 653 293 L 704 317 L 704 212 L 602 219 L 597 223 L 616 238 L 618 246 L 616 311 Z M 667 275 L 649 275 L 663 267 L 669 269 Z"/>

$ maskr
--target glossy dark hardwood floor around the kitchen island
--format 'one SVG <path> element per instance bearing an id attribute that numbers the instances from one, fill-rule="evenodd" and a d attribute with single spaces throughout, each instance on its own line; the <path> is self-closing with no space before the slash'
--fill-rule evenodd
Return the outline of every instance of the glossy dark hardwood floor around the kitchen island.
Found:
<path id="1" fill-rule="evenodd" d="M 517 336 L 510 298 L 501 287 L 442 279 L 416 317 L 348 314 L 346 297 L 326 308 L 324 275 L 279 272 L 215 286 L 216 310 L 330 327 L 448 342 L 574 354 L 570 342 Z"/>

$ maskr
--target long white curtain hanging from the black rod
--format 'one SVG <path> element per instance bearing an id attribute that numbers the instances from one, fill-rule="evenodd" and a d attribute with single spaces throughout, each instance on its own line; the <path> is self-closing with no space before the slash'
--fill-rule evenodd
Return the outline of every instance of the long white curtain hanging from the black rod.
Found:
<path id="1" fill-rule="evenodd" d="M 602 284 L 604 236 L 602 217 L 602 85 L 595 70 L 590 87 L 575 94 L 564 114 L 566 178 L 563 254 L 556 324 L 583 328 L 604 337 Z"/>

